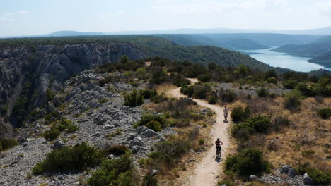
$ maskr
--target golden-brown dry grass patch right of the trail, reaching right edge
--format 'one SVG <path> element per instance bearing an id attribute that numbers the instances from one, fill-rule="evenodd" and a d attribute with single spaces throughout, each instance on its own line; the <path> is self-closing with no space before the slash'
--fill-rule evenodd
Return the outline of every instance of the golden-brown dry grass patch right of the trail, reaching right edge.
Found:
<path id="1" fill-rule="evenodd" d="M 267 115 L 289 118 L 291 124 L 279 132 L 270 132 L 265 136 L 265 151 L 267 159 L 275 166 L 287 164 L 298 166 L 298 163 L 309 162 L 311 166 L 323 171 L 331 171 L 331 120 L 323 120 L 318 116 L 317 109 L 331 105 L 331 98 L 325 98 L 319 103 L 314 98 L 301 101 L 301 109 L 292 113 L 284 109 L 282 97 L 275 99 L 255 98 L 249 101 L 237 101 L 232 106 L 250 106 L 252 115 Z M 303 157 L 302 151 L 315 151 L 309 157 Z"/>

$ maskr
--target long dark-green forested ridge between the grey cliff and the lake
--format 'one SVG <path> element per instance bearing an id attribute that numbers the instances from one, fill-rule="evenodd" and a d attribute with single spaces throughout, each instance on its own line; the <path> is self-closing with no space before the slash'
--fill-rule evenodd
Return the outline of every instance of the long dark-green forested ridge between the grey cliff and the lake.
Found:
<path id="1" fill-rule="evenodd" d="M 238 66 L 245 64 L 250 68 L 269 70 L 272 67 L 250 58 L 248 55 L 229 51 L 216 46 L 180 46 L 167 39 L 146 35 L 107 35 L 107 36 L 81 36 L 81 37 L 40 37 L 22 39 L 1 39 L 0 46 L 18 45 L 56 45 L 67 44 L 103 44 L 103 43 L 129 43 L 144 51 L 146 56 L 160 56 L 173 61 L 192 61 L 195 63 L 214 62 L 222 66 Z"/>

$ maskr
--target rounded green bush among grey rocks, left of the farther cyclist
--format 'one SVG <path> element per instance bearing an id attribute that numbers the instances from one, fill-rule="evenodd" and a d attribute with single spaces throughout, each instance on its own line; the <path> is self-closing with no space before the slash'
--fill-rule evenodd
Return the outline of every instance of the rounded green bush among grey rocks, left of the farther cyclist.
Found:
<path id="1" fill-rule="evenodd" d="M 146 126 L 156 132 L 161 131 L 167 125 L 164 116 L 146 114 L 135 124 L 136 126 Z"/>

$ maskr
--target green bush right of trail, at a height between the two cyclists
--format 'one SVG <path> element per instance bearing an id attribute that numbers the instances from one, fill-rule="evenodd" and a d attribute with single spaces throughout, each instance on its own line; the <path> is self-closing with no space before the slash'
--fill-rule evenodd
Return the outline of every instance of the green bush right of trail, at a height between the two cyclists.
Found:
<path id="1" fill-rule="evenodd" d="M 255 116 L 248 118 L 244 123 L 236 124 L 233 126 L 232 135 L 236 136 L 240 130 L 247 131 L 250 135 L 258 132 L 267 132 L 270 128 L 271 120 L 265 116 Z"/>

